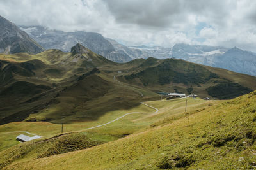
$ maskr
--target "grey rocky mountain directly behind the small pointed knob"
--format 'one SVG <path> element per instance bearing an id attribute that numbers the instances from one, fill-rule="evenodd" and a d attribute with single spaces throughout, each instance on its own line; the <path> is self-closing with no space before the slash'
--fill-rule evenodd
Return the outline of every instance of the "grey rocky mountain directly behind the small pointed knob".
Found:
<path id="1" fill-rule="evenodd" d="M 72 46 L 80 43 L 93 52 L 115 62 L 127 62 L 132 60 L 128 55 L 116 52 L 109 41 L 101 34 L 95 32 L 63 32 L 46 29 L 40 26 L 20 26 L 20 29 L 26 31 L 29 36 L 38 41 L 45 49 L 56 48 L 63 52 L 68 52 Z"/>

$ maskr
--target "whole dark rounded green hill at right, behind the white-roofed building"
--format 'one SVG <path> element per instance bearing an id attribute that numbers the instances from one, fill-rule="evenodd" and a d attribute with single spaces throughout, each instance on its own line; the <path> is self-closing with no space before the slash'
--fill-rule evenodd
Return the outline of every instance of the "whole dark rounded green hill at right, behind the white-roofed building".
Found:
<path id="1" fill-rule="evenodd" d="M 119 80 L 154 91 L 192 93 L 218 99 L 232 99 L 256 88 L 253 76 L 183 60 L 149 58 L 139 66 L 144 69 L 121 76 Z"/>

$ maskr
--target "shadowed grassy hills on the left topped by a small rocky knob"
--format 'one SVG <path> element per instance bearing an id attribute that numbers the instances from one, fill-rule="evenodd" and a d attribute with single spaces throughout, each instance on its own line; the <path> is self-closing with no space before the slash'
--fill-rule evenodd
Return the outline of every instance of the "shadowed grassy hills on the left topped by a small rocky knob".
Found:
<path id="1" fill-rule="evenodd" d="M 24 119 L 55 123 L 95 120 L 141 101 L 140 87 L 126 87 L 113 80 L 120 64 L 81 45 L 74 46 L 71 53 L 2 54 L 0 60 L 1 124 Z M 157 96 L 142 91 L 148 97 Z"/>

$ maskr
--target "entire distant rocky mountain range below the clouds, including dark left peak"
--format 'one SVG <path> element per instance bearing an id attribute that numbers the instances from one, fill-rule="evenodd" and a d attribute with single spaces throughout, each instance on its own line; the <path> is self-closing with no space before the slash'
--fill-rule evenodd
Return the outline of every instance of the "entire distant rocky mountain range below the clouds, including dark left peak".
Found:
<path id="1" fill-rule="evenodd" d="M 64 32 L 42 26 L 17 27 L 3 17 L 0 17 L 0 23 L 0 52 L 2 53 L 40 53 L 44 48 L 68 52 L 76 43 L 81 43 L 93 52 L 119 63 L 148 57 L 176 58 L 256 76 L 256 53 L 237 47 L 186 44 L 176 44 L 172 48 L 125 46 L 95 32 Z"/>

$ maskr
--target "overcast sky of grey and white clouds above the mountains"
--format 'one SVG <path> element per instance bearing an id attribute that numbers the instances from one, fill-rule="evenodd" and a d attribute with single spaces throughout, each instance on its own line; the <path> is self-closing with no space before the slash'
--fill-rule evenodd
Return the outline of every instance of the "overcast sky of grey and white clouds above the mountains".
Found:
<path id="1" fill-rule="evenodd" d="M 256 51 L 252 0 L 0 0 L 16 25 L 99 32 L 124 45 L 237 46 Z"/>

